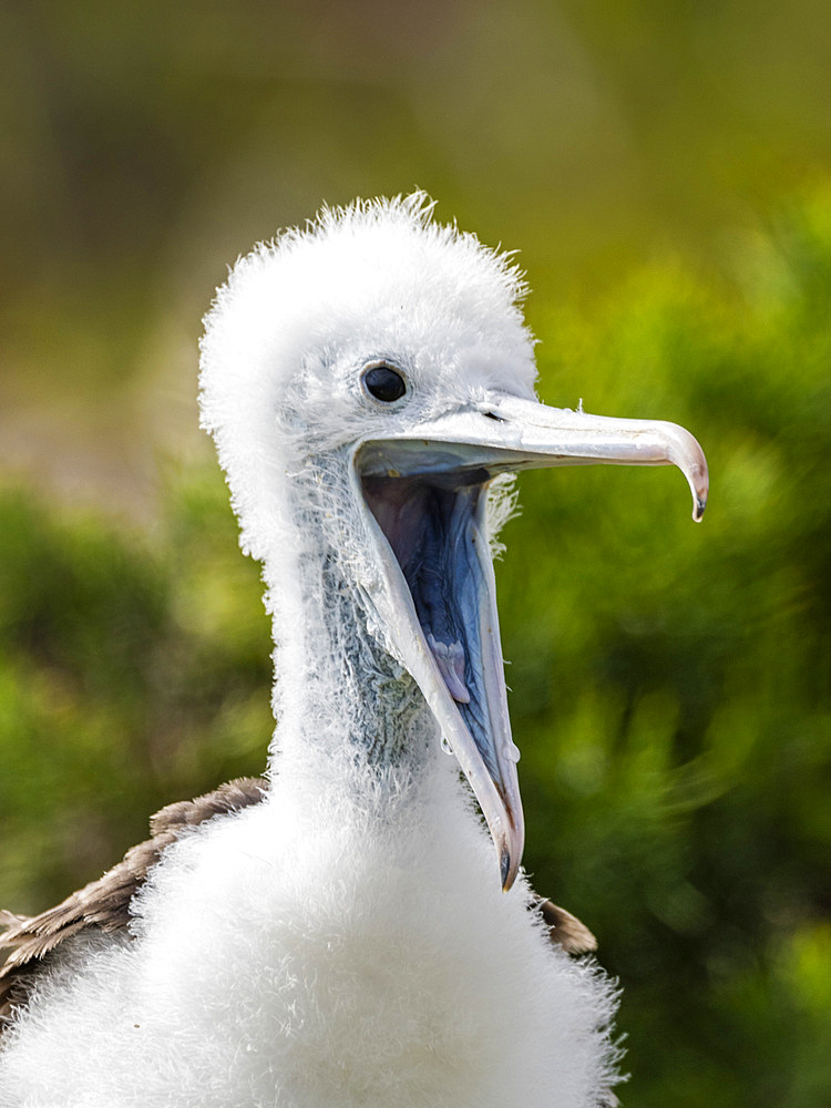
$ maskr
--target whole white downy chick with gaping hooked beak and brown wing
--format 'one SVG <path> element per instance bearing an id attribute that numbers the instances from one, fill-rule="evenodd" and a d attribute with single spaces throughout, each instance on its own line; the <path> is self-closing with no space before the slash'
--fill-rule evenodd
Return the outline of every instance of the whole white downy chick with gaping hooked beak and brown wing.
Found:
<path id="1" fill-rule="evenodd" d="M 420 193 L 219 290 L 202 420 L 274 619 L 270 783 L 7 914 L 0 1108 L 614 1101 L 615 991 L 529 911 L 492 546 L 520 470 L 674 463 L 695 517 L 707 470 L 675 424 L 541 404 L 523 293 Z"/>

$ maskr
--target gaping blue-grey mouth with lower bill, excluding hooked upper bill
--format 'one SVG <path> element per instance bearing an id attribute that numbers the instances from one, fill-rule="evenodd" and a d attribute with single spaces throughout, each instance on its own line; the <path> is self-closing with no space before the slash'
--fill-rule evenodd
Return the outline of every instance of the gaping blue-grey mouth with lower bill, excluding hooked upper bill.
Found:
<path id="1" fill-rule="evenodd" d="M 501 466 L 492 449 L 483 454 L 459 442 L 371 442 L 356 476 L 386 540 L 377 550 L 388 626 L 473 788 L 507 889 L 524 832 L 485 526 L 488 486 Z"/>

